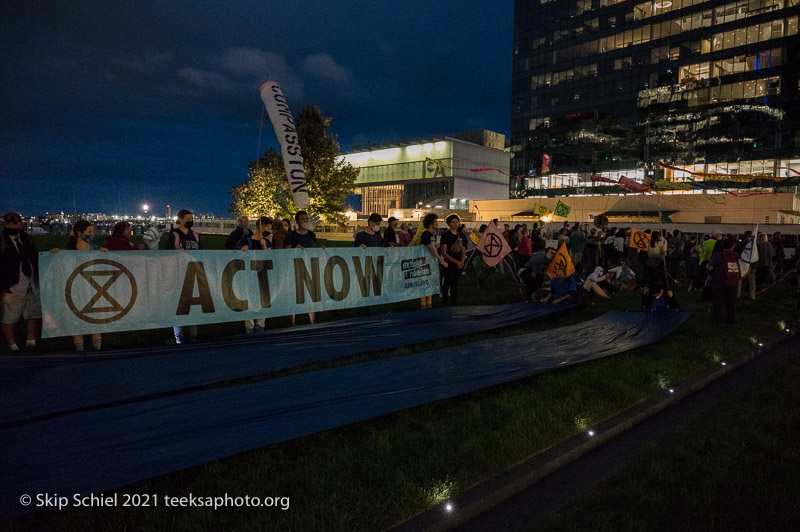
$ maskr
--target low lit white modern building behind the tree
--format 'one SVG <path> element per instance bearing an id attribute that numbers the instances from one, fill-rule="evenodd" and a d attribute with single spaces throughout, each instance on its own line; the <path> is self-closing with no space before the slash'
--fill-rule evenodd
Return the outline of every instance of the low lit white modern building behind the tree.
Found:
<path id="1" fill-rule="evenodd" d="M 361 169 L 356 194 L 363 214 L 467 209 L 470 200 L 508 198 L 505 136 L 491 131 L 376 146 L 343 157 Z M 471 171 L 476 169 L 483 171 Z"/>

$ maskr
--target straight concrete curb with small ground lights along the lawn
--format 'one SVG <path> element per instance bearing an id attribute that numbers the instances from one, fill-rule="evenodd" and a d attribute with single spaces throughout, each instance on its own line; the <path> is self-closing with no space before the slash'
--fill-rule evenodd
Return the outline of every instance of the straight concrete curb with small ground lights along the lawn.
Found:
<path id="1" fill-rule="evenodd" d="M 724 361 L 720 361 L 718 367 L 700 371 L 675 385 L 671 391 L 665 390 L 651 395 L 642 402 L 595 424 L 591 427 L 591 435 L 589 431 L 576 434 L 485 482 L 471 486 L 448 501 L 452 505 L 453 511 L 448 511 L 443 505 L 437 505 L 395 525 L 391 530 L 431 532 L 450 530 L 474 519 L 577 460 L 592 449 L 603 445 L 670 405 L 793 338 L 797 334 L 796 328 L 800 324 L 795 322 L 793 325 L 794 327 L 788 333 L 784 332 L 781 336 L 775 336 L 770 340 L 734 353 Z"/>

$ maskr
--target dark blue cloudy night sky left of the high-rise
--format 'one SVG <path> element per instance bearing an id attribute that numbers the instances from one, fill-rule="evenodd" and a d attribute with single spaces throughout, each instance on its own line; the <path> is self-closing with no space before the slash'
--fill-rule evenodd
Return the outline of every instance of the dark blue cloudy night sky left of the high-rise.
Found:
<path id="1" fill-rule="evenodd" d="M 259 130 L 277 146 L 270 80 L 342 151 L 508 135 L 512 26 L 511 0 L 6 0 L 0 211 L 225 216 Z"/>

